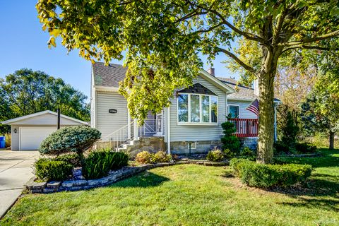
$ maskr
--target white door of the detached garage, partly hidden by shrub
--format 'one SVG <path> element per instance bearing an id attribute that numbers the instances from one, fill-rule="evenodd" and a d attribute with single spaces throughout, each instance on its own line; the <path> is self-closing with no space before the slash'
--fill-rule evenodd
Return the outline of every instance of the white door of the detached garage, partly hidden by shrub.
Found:
<path id="1" fill-rule="evenodd" d="M 53 127 L 21 127 L 20 150 L 37 150 L 44 138 L 56 130 Z"/>

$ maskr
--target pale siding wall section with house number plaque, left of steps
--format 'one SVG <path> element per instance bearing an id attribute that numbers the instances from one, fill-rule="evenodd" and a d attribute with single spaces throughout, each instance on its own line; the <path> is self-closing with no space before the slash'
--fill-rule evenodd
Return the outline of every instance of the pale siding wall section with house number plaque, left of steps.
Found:
<path id="1" fill-rule="evenodd" d="M 95 128 L 98 129 L 104 138 L 122 126 L 127 125 L 127 102 L 118 93 L 100 92 L 96 95 Z M 109 113 L 109 109 L 117 109 L 117 113 Z"/>

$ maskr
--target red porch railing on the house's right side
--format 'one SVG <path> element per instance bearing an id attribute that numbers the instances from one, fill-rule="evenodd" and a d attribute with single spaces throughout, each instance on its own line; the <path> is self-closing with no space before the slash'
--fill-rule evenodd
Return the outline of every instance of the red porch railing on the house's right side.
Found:
<path id="1" fill-rule="evenodd" d="M 229 119 L 234 123 L 237 137 L 256 137 L 258 136 L 258 119 Z"/>

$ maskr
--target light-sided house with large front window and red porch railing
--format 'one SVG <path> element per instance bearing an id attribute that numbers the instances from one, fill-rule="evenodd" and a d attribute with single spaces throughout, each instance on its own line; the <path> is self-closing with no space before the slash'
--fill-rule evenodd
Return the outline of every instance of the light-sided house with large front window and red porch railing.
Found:
<path id="1" fill-rule="evenodd" d="M 124 96 L 118 93 L 126 68 L 118 64 L 92 66 L 91 121 L 102 133 L 101 145 L 135 150 L 167 150 L 168 153 L 202 153 L 220 145 L 221 124 L 230 113 L 237 136 L 256 145 L 257 117 L 246 109 L 256 100 L 256 90 L 237 86 L 230 78 L 215 77 L 214 69 L 201 70 L 189 88 L 178 89 L 170 107 L 148 114 L 143 126 L 131 119 Z"/>

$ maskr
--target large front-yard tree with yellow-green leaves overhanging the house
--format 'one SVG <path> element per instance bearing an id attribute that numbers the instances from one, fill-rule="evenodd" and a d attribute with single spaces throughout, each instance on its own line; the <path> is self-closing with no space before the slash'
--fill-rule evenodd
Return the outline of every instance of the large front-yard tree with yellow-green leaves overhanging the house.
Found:
<path id="1" fill-rule="evenodd" d="M 330 10 L 329 10 L 330 9 Z M 225 54 L 259 81 L 257 161 L 273 160 L 273 83 L 278 59 L 292 49 L 321 49 L 339 34 L 338 1 L 124 1 L 40 0 L 37 12 L 49 46 L 55 38 L 85 59 L 123 59 L 129 67 L 120 93 L 131 116 L 169 105 L 174 89 L 190 85 L 201 68 L 198 53 Z M 246 64 L 234 40 L 260 49 L 260 64 Z M 335 47 L 333 47 L 335 48 Z M 142 101 L 141 101 L 142 100 Z"/>

